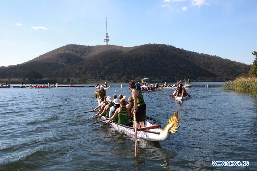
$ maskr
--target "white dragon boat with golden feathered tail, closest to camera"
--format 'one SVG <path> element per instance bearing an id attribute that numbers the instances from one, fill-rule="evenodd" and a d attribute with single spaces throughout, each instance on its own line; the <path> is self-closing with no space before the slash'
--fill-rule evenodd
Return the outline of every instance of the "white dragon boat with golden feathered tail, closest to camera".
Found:
<path id="1" fill-rule="evenodd" d="M 102 116 L 101 119 L 105 120 L 108 118 L 105 116 Z M 107 120 L 105 122 L 107 122 Z M 170 133 L 174 134 L 175 132 L 177 132 L 176 129 L 179 128 L 178 123 L 179 123 L 178 111 L 174 112 L 174 115 L 170 117 L 170 121 L 164 129 L 161 129 L 160 125 L 154 125 L 148 119 L 145 119 L 144 127 L 138 128 L 137 137 L 140 137 L 142 139 L 146 139 L 149 141 L 165 141 L 170 137 Z M 133 127 L 121 125 L 116 122 L 110 122 L 108 125 L 111 125 L 112 127 L 114 127 L 117 130 L 121 130 L 125 133 L 135 136 Z M 152 129 L 150 129 L 150 128 L 152 128 Z M 140 129 L 142 131 L 140 131 Z M 147 129 L 147 130 L 144 130 L 144 129 Z"/>

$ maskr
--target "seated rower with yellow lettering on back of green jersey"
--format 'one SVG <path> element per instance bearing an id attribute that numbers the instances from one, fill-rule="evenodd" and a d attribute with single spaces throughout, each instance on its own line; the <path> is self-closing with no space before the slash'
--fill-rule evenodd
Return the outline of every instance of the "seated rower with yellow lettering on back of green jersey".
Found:
<path id="1" fill-rule="evenodd" d="M 110 121 L 114 120 L 118 116 L 119 124 L 126 125 L 126 126 L 131 126 L 131 123 L 130 123 L 130 120 L 129 120 L 129 110 L 126 107 L 126 100 L 121 99 L 120 100 L 120 105 L 121 105 L 121 107 L 119 107 L 115 111 L 114 115 L 109 119 L 109 121 L 107 121 L 105 123 L 105 125 L 107 125 Z"/>

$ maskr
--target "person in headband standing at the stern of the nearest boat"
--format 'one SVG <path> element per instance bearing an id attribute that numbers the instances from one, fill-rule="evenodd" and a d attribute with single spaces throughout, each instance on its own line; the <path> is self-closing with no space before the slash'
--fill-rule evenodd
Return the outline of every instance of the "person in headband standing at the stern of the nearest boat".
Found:
<path id="1" fill-rule="evenodd" d="M 136 121 L 138 128 L 144 127 L 143 116 L 146 110 L 146 104 L 144 103 L 144 98 L 142 92 L 136 89 L 136 84 L 134 81 L 128 83 L 129 89 L 132 91 L 132 97 L 134 99 L 134 112 L 136 113 Z"/>

